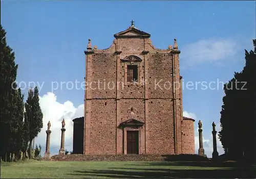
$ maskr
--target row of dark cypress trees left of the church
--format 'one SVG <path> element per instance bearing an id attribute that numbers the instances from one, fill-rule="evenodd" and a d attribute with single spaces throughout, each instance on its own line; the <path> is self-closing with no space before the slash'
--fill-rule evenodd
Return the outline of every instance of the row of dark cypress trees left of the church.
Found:
<path id="1" fill-rule="evenodd" d="M 42 112 L 39 106 L 37 87 L 28 90 L 24 103 L 24 94 L 17 88 L 18 65 L 15 54 L 7 45 L 6 31 L 1 25 L 1 160 L 17 161 L 32 158 L 32 141 L 42 129 Z M 27 156 L 28 153 L 28 156 Z M 22 155 L 23 154 L 23 155 Z"/>

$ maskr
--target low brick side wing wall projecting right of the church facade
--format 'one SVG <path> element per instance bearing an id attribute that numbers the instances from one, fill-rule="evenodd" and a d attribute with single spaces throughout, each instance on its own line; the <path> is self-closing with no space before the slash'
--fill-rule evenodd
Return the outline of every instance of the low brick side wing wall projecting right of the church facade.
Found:
<path id="1" fill-rule="evenodd" d="M 182 153 L 195 154 L 194 120 L 182 120 Z"/>

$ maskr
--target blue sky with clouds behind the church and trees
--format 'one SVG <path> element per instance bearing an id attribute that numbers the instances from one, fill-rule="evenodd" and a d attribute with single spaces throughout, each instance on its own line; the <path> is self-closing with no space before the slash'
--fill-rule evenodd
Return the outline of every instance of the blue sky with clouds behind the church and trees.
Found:
<path id="1" fill-rule="evenodd" d="M 17 82 L 24 82 L 25 94 L 29 82 L 44 82 L 40 90 L 44 130 L 37 143 L 45 144 L 48 120 L 55 120 L 59 129 L 56 125 L 61 118 L 82 115 L 79 105 L 84 91 L 65 86 L 52 90 L 51 83 L 82 82 L 88 39 L 99 49 L 108 48 L 113 35 L 127 29 L 132 19 L 136 28 L 151 34 L 157 48 L 167 48 L 177 38 L 185 84 L 230 80 L 234 71 L 242 70 L 244 49 L 252 49 L 255 38 L 253 1 L 2 1 L 1 24 L 19 65 Z M 211 88 L 217 86 L 212 84 Z M 219 123 L 224 93 L 222 85 L 219 89 L 201 87 L 184 89 L 183 110 L 197 119 L 195 130 L 202 120 L 205 147 L 211 155 L 211 123 Z M 58 133 L 53 135 L 54 151 L 60 144 Z M 71 136 L 68 133 L 68 149 L 72 149 Z"/>

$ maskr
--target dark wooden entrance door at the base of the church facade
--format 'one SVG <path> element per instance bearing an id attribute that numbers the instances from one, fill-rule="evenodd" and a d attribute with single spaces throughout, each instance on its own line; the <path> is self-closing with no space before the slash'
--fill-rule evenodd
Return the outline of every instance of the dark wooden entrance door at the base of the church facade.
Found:
<path id="1" fill-rule="evenodd" d="M 127 131 L 127 154 L 139 154 L 139 131 Z"/>

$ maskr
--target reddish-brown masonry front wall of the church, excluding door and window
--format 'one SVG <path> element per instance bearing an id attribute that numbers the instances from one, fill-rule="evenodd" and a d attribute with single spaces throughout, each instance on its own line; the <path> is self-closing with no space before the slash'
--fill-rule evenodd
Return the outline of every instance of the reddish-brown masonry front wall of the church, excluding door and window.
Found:
<path id="1" fill-rule="evenodd" d="M 141 59 L 139 84 L 125 82 L 126 65 L 121 59 L 127 56 Z M 177 48 L 155 48 L 148 38 L 119 36 L 108 49 L 93 48 L 93 53 L 87 54 L 86 78 L 87 85 L 91 86 L 84 103 L 84 154 L 123 154 L 123 130 L 118 126 L 131 118 L 144 122 L 140 129 L 140 154 L 189 153 L 190 144 L 182 144 L 182 140 L 188 141 L 188 138 L 183 137 L 181 130 L 193 135 L 194 130 L 189 127 L 186 130 L 191 125 L 189 122 L 181 126 L 182 91 L 176 87 L 174 96 L 174 74 L 175 81 L 179 82 Z M 131 107 L 134 114 L 129 111 Z M 194 144 L 192 146 L 194 148 Z"/>

